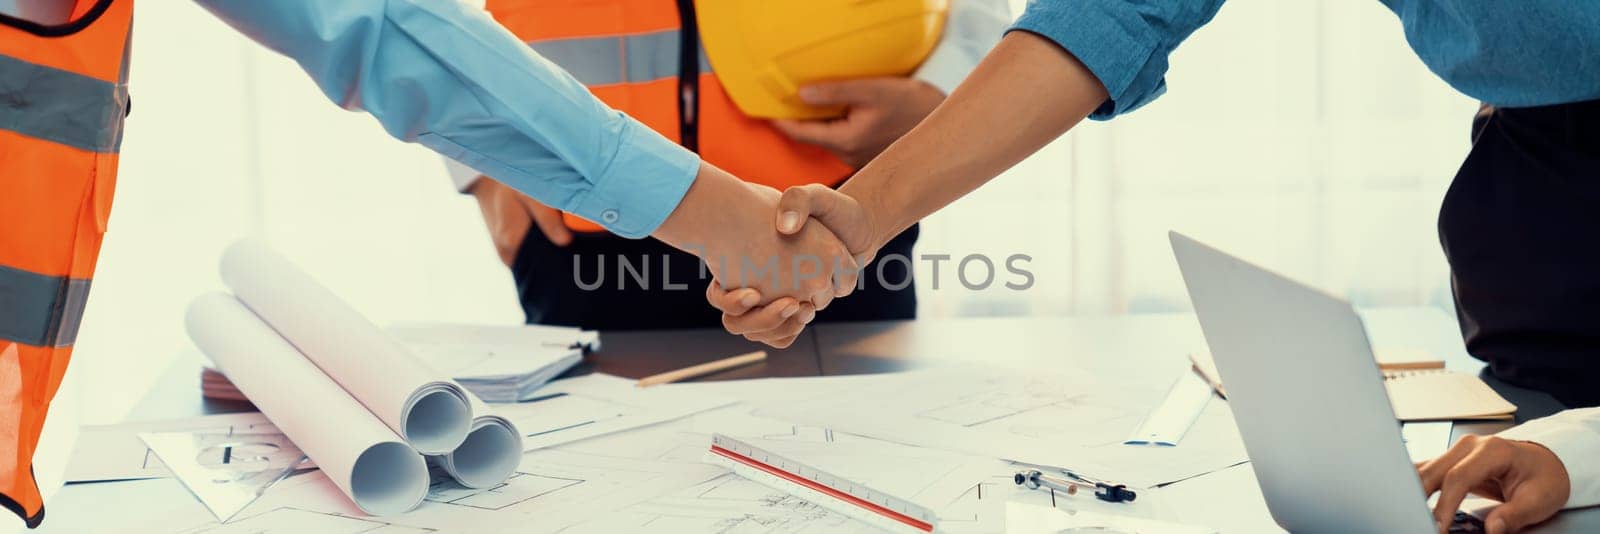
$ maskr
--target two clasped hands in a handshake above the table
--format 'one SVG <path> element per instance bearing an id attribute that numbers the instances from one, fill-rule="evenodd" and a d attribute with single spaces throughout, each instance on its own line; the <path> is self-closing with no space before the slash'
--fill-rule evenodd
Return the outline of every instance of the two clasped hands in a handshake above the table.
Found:
<path id="1" fill-rule="evenodd" d="M 702 163 L 654 237 L 704 261 L 714 277 L 706 299 L 730 333 L 782 349 L 816 312 L 856 289 L 899 230 L 826 185 L 779 193 Z"/>

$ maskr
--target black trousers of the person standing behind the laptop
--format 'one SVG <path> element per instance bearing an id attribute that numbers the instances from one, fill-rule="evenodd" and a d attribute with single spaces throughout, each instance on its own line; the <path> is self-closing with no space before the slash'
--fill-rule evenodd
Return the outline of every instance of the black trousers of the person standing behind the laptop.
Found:
<path id="1" fill-rule="evenodd" d="M 1467 352 L 1600 406 L 1600 101 L 1480 115 L 1438 235 Z"/>

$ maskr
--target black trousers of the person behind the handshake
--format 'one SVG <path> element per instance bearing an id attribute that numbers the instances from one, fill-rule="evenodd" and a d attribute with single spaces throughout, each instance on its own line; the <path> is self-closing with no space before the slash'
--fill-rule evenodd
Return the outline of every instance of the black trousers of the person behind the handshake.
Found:
<path id="1" fill-rule="evenodd" d="M 877 257 L 915 259 L 910 254 L 917 232 L 912 225 L 894 237 Z M 875 259 L 861 275 L 864 286 L 834 301 L 816 321 L 917 318 L 910 264 Z M 534 227 L 517 251 L 512 278 L 530 325 L 613 331 L 722 328 L 722 312 L 706 302 L 710 273 L 702 272 L 699 257 L 653 238 L 578 233 L 571 245 L 555 246 Z"/>

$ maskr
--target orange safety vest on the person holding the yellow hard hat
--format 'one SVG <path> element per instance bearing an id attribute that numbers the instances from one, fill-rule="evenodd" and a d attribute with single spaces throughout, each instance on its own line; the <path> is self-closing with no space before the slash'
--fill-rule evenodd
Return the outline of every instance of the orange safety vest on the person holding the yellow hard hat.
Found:
<path id="1" fill-rule="evenodd" d="M 854 169 L 734 107 L 701 53 L 693 0 L 488 0 L 488 11 L 600 101 L 733 176 L 835 185 Z M 600 225 L 565 214 L 579 232 Z"/>

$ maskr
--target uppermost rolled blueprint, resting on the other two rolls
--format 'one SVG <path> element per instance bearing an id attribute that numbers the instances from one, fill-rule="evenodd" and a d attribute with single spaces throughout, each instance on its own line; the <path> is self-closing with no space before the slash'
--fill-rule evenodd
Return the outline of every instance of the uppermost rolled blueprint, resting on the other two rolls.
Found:
<path id="1" fill-rule="evenodd" d="M 467 438 L 467 393 L 258 238 L 222 253 L 222 281 L 310 363 L 422 454 Z M 232 377 L 232 376 L 230 376 Z"/>

